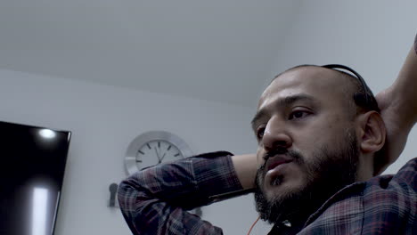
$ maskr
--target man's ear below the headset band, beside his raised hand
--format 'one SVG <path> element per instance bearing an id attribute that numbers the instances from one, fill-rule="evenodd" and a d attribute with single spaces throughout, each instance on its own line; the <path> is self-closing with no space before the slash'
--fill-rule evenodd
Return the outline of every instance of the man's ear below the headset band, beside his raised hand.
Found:
<path id="1" fill-rule="evenodd" d="M 375 153 L 382 149 L 386 138 L 385 124 L 380 114 L 368 111 L 359 115 L 359 147 L 364 154 Z"/>

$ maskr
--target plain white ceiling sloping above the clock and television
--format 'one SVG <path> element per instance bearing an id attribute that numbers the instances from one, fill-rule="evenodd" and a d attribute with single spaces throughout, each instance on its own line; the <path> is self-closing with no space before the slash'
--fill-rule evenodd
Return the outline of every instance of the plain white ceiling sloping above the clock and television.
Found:
<path id="1" fill-rule="evenodd" d="M 253 107 L 294 1 L 0 3 L 0 68 Z"/>

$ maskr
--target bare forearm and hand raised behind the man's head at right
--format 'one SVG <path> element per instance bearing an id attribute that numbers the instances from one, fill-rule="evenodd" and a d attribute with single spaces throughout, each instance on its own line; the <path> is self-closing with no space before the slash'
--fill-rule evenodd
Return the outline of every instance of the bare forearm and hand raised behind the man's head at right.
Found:
<path id="1" fill-rule="evenodd" d="M 397 80 L 376 99 L 387 127 L 387 142 L 375 162 L 376 174 L 397 160 L 405 148 L 408 134 L 417 121 L 417 36 Z"/>

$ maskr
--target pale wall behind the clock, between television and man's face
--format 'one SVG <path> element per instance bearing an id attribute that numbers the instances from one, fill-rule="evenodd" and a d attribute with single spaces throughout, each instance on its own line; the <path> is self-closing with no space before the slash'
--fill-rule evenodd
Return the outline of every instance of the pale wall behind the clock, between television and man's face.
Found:
<path id="1" fill-rule="evenodd" d="M 126 177 L 129 142 L 150 130 L 178 134 L 195 153 L 256 150 L 253 109 L 0 69 L 0 120 L 70 130 L 57 235 L 130 234 L 109 185 Z M 242 207 L 244 205 L 244 207 Z M 244 234 L 258 215 L 251 196 L 205 207 L 226 234 Z M 231 219 L 231 218 L 239 219 Z M 266 233 L 267 226 L 259 226 Z"/>

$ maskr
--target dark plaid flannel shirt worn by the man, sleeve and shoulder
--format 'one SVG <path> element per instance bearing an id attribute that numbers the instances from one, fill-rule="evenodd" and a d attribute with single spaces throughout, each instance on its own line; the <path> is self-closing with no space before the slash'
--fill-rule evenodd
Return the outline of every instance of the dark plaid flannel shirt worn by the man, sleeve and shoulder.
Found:
<path id="1" fill-rule="evenodd" d="M 211 196 L 241 190 L 228 152 L 203 154 L 132 174 L 119 205 L 135 234 L 223 234 L 187 210 Z M 269 234 L 417 234 L 417 158 L 395 175 L 356 182 L 328 199 L 304 226 L 276 223 Z"/>

